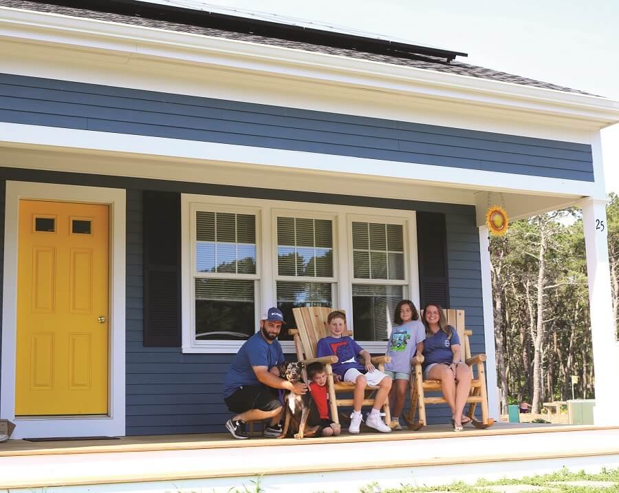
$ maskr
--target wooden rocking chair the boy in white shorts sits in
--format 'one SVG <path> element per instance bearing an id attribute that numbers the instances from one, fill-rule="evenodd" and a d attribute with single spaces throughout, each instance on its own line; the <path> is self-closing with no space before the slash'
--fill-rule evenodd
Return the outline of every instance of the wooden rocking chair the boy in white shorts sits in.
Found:
<path id="1" fill-rule="evenodd" d="M 302 308 L 292 308 L 294 314 L 294 322 L 296 328 L 291 328 L 288 333 L 294 339 L 294 347 L 296 348 L 296 357 L 298 361 L 303 361 L 306 365 L 319 361 L 326 366 L 327 373 L 327 391 L 329 392 L 329 405 L 331 406 L 331 417 L 336 423 L 340 422 L 338 415 L 338 406 L 352 406 L 353 399 L 338 399 L 336 395 L 342 392 L 352 392 L 355 384 L 347 381 L 336 382 L 333 377 L 332 364 L 338 362 L 337 356 L 316 357 L 316 344 L 318 339 L 329 335 L 327 330 L 327 317 L 329 313 L 334 311 L 333 308 L 324 306 L 307 306 Z M 348 331 L 344 335 L 351 335 Z M 384 370 L 384 364 L 391 361 L 389 356 L 372 357 L 372 364 L 376 365 L 378 370 Z M 303 375 L 304 377 L 306 375 Z M 363 406 L 371 406 L 374 401 L 371 399 L 371 393 L 378 389 L 377 386 L 367 386 L 366 390 L 371 391 L 368 395 L 366 392 Z M 389 412 L 389 399 L 386 399 L 382 410 L 385 416 L 385 422 L 389 424 L 391 421 L 391 413 Z"/>

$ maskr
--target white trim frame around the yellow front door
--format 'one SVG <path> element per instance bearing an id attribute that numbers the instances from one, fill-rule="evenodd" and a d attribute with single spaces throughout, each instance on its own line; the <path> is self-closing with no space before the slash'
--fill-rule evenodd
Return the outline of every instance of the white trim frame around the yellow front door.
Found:
<path id="1" fill-rule="evenodd" d="M 15 417 L 15 366 L 17 340 L 17 239 L 19 200 L 57 200 L 110 206 L 110 353 L 109 414 L 97 417 Z M 6 182 L 4 230 L 4 279 L 2 308 L 2 357 L 0 415 L 17 424 L 11 438 L 124 436 L 125 433 L 125 218 L 124 189 L 57 185 L 55 183 Z"/>

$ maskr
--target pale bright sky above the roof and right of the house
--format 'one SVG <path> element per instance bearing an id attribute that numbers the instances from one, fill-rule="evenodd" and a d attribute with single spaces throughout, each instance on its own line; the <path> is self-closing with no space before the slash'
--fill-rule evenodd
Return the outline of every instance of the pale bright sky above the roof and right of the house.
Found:
<path id="1" fill-rule="evenodd" d="M 617 0 L 147 1 L 465 52 L 466 63 L 619 101 Z M 619 193 L 619 124 L 602 131 L 602 156 L 607 191 Z"/>

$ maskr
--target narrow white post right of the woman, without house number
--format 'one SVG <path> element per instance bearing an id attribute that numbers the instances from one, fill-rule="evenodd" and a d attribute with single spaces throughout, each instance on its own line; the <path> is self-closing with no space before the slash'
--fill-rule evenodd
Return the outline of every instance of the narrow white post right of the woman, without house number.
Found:
<path id="1" fill-rule="evenodd" d="M 481 299 L 484 303 L 484 342 L 486 343 L 486 384 L 488 412 L 499 421 L 499 392 L 497 390 L 497 355 L 495 351 L 495 314 L 492 309 L 492 280 L 490 278 L 490 240 L 488 227 L 479 227 L 479 256 L 481 258 Z"/>

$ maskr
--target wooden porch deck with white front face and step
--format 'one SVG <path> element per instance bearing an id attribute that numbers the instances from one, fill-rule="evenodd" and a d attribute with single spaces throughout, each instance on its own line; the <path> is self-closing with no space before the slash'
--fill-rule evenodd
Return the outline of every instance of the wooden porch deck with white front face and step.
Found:
<path id="1" fill-rule="evenodd" d="M 511 471 L 550 472 L 563 465 L 619 467 L 619 427 L 496 423 L 459 433 L 435 425 L 418 432 L 344 432 L 304 440 L 235 440 L 227 433 L 13 440 L 0 443 L 0 490 L 51 492 L 50 487 L 89 485 L 89 492 L 104 493 L 123 483 L 123 492 L 144 485 L 149 492 L 242 491 L 241 485 L 261 476 L 263 487 L 279 485 L 274 491 L 345 492 L 372 481 L 444 484 L 492 474 L 498 479 Z"/>

